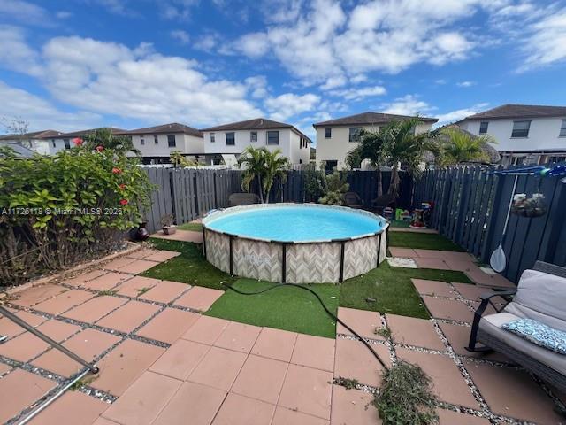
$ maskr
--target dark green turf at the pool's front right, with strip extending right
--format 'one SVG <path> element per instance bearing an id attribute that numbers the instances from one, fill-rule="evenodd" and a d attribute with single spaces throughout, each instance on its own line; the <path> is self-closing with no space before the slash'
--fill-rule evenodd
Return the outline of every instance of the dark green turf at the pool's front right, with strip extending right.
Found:
<path id="1" fill-rule="evenodd" d="M 471 283 L 462 272 L 391 267 L 384 261 L 367 274 L 342 282 L 340 306 L 428 319 L 430 316 L 411 278 Z M 368 302 L 366 298 L 376 301 Z"/>

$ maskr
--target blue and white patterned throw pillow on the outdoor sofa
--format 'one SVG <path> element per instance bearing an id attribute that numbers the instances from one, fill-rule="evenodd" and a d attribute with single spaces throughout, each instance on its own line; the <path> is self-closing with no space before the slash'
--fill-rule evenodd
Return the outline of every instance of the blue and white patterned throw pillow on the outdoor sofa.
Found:
<path id="1" fill-rule="evenodd" d="M 532 319 L 509 321 L 501 328 L 553 352 L 566 354 L 566 332 Z"/>

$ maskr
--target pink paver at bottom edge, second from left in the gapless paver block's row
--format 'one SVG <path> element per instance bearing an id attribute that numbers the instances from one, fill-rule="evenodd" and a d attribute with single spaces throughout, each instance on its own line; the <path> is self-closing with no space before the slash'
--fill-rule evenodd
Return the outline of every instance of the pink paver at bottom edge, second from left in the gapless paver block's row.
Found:
<path id="1" fill-rule="evenodd" d="M 225 391 L 198 383 L 183 383 L 153 425 L 208 425 L 225 397 Z"/>

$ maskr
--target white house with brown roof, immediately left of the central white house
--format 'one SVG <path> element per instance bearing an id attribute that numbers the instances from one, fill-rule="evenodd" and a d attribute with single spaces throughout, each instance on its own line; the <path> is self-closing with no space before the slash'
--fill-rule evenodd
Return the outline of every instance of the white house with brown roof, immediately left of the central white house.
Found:
<path id="1" fill-rule="evenodd" d="M 142 152 L 144 164 L 168 163 L 173 151 L 180 151 L 201 163 L 210 163 L 204 156 L 203 133 L 196 128 L 173 122 L 123 134 L 132 137 L 134 147 Z"/>

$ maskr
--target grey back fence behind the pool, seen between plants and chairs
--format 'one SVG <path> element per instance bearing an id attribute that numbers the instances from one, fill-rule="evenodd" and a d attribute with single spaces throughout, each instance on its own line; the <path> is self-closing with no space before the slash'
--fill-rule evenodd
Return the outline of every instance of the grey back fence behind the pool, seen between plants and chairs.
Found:
<path id="1" fill-rule="evenodd" d="M 149 180 L 157 186 L 151 194 L 151 210 L 146 213 L 148 229 L 155 232 L 161 228 L 161 218 L 172 214 L 180 225 L 202 217 L 204 213 L 228 206 L 228 197 L 241 189 L 241 170 L 144 167 Z M 275 182 L 270 192 L 270 202 L 309 202 L 305 191 L 304 170 L 287 171 L 284 184 Z M 355 191 L 363 204 L 371 206 L 377 197 L 378 177 L 375 171 L 352 171 L 347 174 L 350 190 Z M 391 180 L 390 172 L 382 173 L 382 188 L 385 193 Z M 255 184 L 251 191 L 257 193 Z M 401 174 L 401 187 L 398 205 L 411 205 L 412 180 Z"/>

